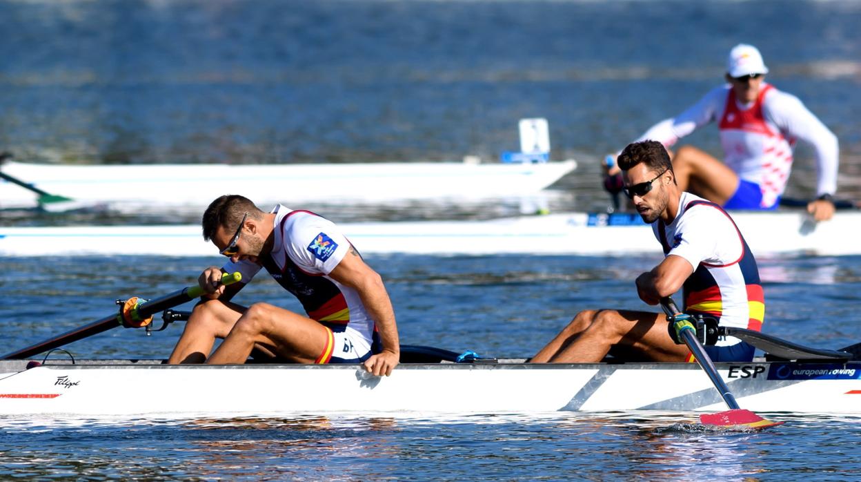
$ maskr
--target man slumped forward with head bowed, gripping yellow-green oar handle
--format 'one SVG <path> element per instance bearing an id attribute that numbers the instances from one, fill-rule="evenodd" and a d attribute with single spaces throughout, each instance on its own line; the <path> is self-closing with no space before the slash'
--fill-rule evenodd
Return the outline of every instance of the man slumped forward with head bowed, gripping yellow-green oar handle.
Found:
<path id="1" fill-rule="evenodd" d="M 169 363 L 245 363 L 252 351 L 299 363 L 362 363 L 389 375 L 400 358 L 394 310 L 382 279 L 333 222 L 278 205 L 264 212 L 246 197 L 221 196 L 203 214 L 203 237 L 228 257 L 198 283 L 195 305 Z M 231 301 L 265 269 L 305 314 Z M 223 272 L 242 281 L 221 285 Z M 223 339 L 212 352 L 216 339 Z"/>

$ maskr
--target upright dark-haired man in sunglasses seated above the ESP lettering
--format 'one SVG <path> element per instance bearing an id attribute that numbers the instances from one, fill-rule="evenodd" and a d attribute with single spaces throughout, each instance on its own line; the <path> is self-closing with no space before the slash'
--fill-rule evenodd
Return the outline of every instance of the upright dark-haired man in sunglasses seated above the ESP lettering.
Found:
<path id="1" fill-rule="evenodd" d="M 665 258 L 637 277 L 642 301 L 656 305 L 682 288 L 684 313 L 719 326 L 759 331 L 765 298 L 753 254 L 716 203 L 676 183 L 669 153 L 657 141 L 625 147 L 618 157 L 623 192 L 664 248 Z M 584 310 L 532 358 L 534 363 L 593 363 L 607 354 L 626 361 L 693 361 L 674 341 L 666 316 L 639 310 Z M 714 361 L 753 360 L 753 346 L 724 337 L 705 347 Z"/>

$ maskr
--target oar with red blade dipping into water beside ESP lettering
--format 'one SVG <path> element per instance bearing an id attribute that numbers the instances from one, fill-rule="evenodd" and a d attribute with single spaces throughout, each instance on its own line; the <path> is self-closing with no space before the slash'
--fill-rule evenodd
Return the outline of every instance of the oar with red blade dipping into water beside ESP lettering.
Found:
<path id="1" fill-rule="evenodd" d="M 701 415 L 700 423 L 703 423 L 703 425 L 750 429 L 766 429 L 783 423 L 771 422 L 771 420 L 766 420 L 750 410 L 741 409 L 738 402 L 735 401 L 733 393 L 729 391 L 726 382 L 723 381 L 720 373 L 717 372 L 717 368 L 715 368 L 715 364 L 709 358 L 709 354 L 706 353 L 705 348 L 703 348 L 703 344 L 697 340 L 697 329 L 691 323 L 690 316 L 684 315 L 681 310 L 678 310 L 678 306 L 676 306 L 670 297 L 661 298 L 660 306 L 664 309 L 667 319 L 673 323 L 673 329 L 676 330 L 678 338 L 684 341 L 684 344 L 691 350 L 691 354 L 697 359 L 697 363 L 703 368 L 703 372 L 709 375 L 711 383 L 715 385 L 717 391 L 721 393 L 723 401 L 729 407 L 727 411 Z"/>

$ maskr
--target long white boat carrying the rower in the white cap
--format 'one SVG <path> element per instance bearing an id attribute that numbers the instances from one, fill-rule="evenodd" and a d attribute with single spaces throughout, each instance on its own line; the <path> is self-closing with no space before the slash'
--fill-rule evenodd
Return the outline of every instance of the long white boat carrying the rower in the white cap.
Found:
<path id="1" fill-rule="evenodd" d="M 861 211 L 813 222 L 801 211 L 731 213 L 754 254 L 861 254 Z M 491 221 L 339 223 L 363 254 L 656 254 L 637 215 L 570 213 Z M 0 228 L 0 256 L 211 256 L 196 225 Z"/>

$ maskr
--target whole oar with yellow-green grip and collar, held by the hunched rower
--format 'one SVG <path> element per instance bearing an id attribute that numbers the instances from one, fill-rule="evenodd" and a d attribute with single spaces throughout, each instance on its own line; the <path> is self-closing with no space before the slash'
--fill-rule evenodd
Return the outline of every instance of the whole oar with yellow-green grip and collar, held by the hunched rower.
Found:
<path id="1" fill-rule="evenodd" d="M 242 279 L 242 274 L 239 272 L 224 273 L 221 277 L 222 285 L 232 285 Z M 40 341 L 35 345 L 23 348 L 21 350 L 3 355 L 0 360 L 20 360 L 31 357 L 35 354 L 40 354 L 56 347 L 62 347 L 72 341 L 82 340 L 88 336 L 102 333 L 108 329 L 124 326 L 126 328 L 139 328 L 149 324 L 152 320 L 152 315 L 159 311 L 173 308 L 174 306 L 186 303 L 195 297 L 201 297 L 203 289 L 199 285 L 189 286 L 179 291 L 174 291 L 164 297 L 158 297 L 150 301 L 139 302 L 138 298 L 130 298 L 121 308 L 120 313 L 115 313 L 111 316 L 106 316 L 97 322 L 92 322 L 89 325 L 73 329 L 63 335 L 49 338 L 46 341 Z"/>

